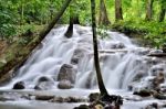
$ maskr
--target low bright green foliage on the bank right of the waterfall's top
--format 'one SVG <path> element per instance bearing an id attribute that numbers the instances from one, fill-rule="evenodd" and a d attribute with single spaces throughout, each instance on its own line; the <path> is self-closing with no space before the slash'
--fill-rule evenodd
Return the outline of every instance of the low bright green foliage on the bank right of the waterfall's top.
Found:
<path id="1" fill-rule="evenodd" d="M 142 20 L 137 21 L 121 21 L 112 26 L 124 33 L 136 33 L 143 35 L 144 40 L 149 42 L 153 46 L 162 48 L 166 43 L 166 22 L 146 22 Z M 149 44 L 147 43 L 147 44 Z"/>

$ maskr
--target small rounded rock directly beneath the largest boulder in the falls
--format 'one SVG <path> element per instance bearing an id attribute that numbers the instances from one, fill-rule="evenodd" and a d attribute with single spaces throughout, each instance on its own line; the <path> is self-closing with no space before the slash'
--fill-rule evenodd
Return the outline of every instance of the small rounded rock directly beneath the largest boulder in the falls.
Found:
<path id="1" fill-rule="evenodd" d="M 73 88 L 73 85 L 71 84 L 70 80 L 61 80 L 58 84 L 58 88 L 60 88 L 60 89 L 71 89 L 71 88 Z"/>

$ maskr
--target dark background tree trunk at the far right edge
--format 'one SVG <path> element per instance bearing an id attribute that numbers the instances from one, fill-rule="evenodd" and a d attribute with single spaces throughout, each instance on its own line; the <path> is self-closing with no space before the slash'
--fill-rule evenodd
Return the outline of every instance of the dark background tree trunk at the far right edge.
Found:
<path id="1" fill-rule="evenodd" d="M 164 21 L 165 14 L 166 14 L 166 1 L 162 0 L 162 2 L 160 2 L 160 12 L 159 12 L 159 20 L 158 20 L 159 22 Z"/>

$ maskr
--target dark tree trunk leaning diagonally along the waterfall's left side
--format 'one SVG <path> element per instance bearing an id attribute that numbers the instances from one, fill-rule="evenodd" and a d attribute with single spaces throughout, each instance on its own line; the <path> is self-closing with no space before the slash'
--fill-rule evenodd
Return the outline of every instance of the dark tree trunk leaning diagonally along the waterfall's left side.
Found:
<path id="1" fill-rule="evenodd" d="M 27 45 L 28 48 L 30 47 L 29 53 L 23 55 L 23 57 L 21 57 L 21 59 L 18 61 L 17 58 L 13 58 L 13 61 L 7 63 L 3 66 L 3 68 L 0 70 L 0 81 L 6 81 L 7 79 L 10 79 L 10 76 L 9 76 L 11 74 L 10 70 L 12 70 L 12 73 L 14 73 L 18 70 L 18 68 L 20 68 L 24 64 L 24 62 L 28 59 L 29 55 L 32 53 L 31 51 L 33 51 L 38 46 L 38 44 L 40 44 L 40 42 L 46 36 L 46 34 L 52 30 L 52 28 L 54 28 L 55 23 L 60 20 L 60 18 L 64 13 L 65 9 L 69 7 L 71 1 L 72 0 L 65 0 L 63 7 L 55 14 L 55 17 L 53 18 L 51 23 L 42 32 L 40 32 L 38 41 L 32 42 L 31 44 Z M 6 79 L 3 79 L 3 76 L 8 76 L 8 77 L 6 77 Z"/>

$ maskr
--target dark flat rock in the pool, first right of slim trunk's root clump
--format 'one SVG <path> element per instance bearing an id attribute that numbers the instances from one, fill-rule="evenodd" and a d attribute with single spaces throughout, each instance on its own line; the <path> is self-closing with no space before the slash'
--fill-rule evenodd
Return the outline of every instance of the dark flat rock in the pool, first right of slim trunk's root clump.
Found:
<path id="1" fill-rule="evenodd" d="M 134 91 L 133 95 L 137 95 L 137 96 L 141 96 L 141 97 L 149 97 L 149 96 L 152 96 L 152 91 L 147 90 L 147 89 L 143 89 L 143 90 L 139 90 L 139 91 Z"/>

